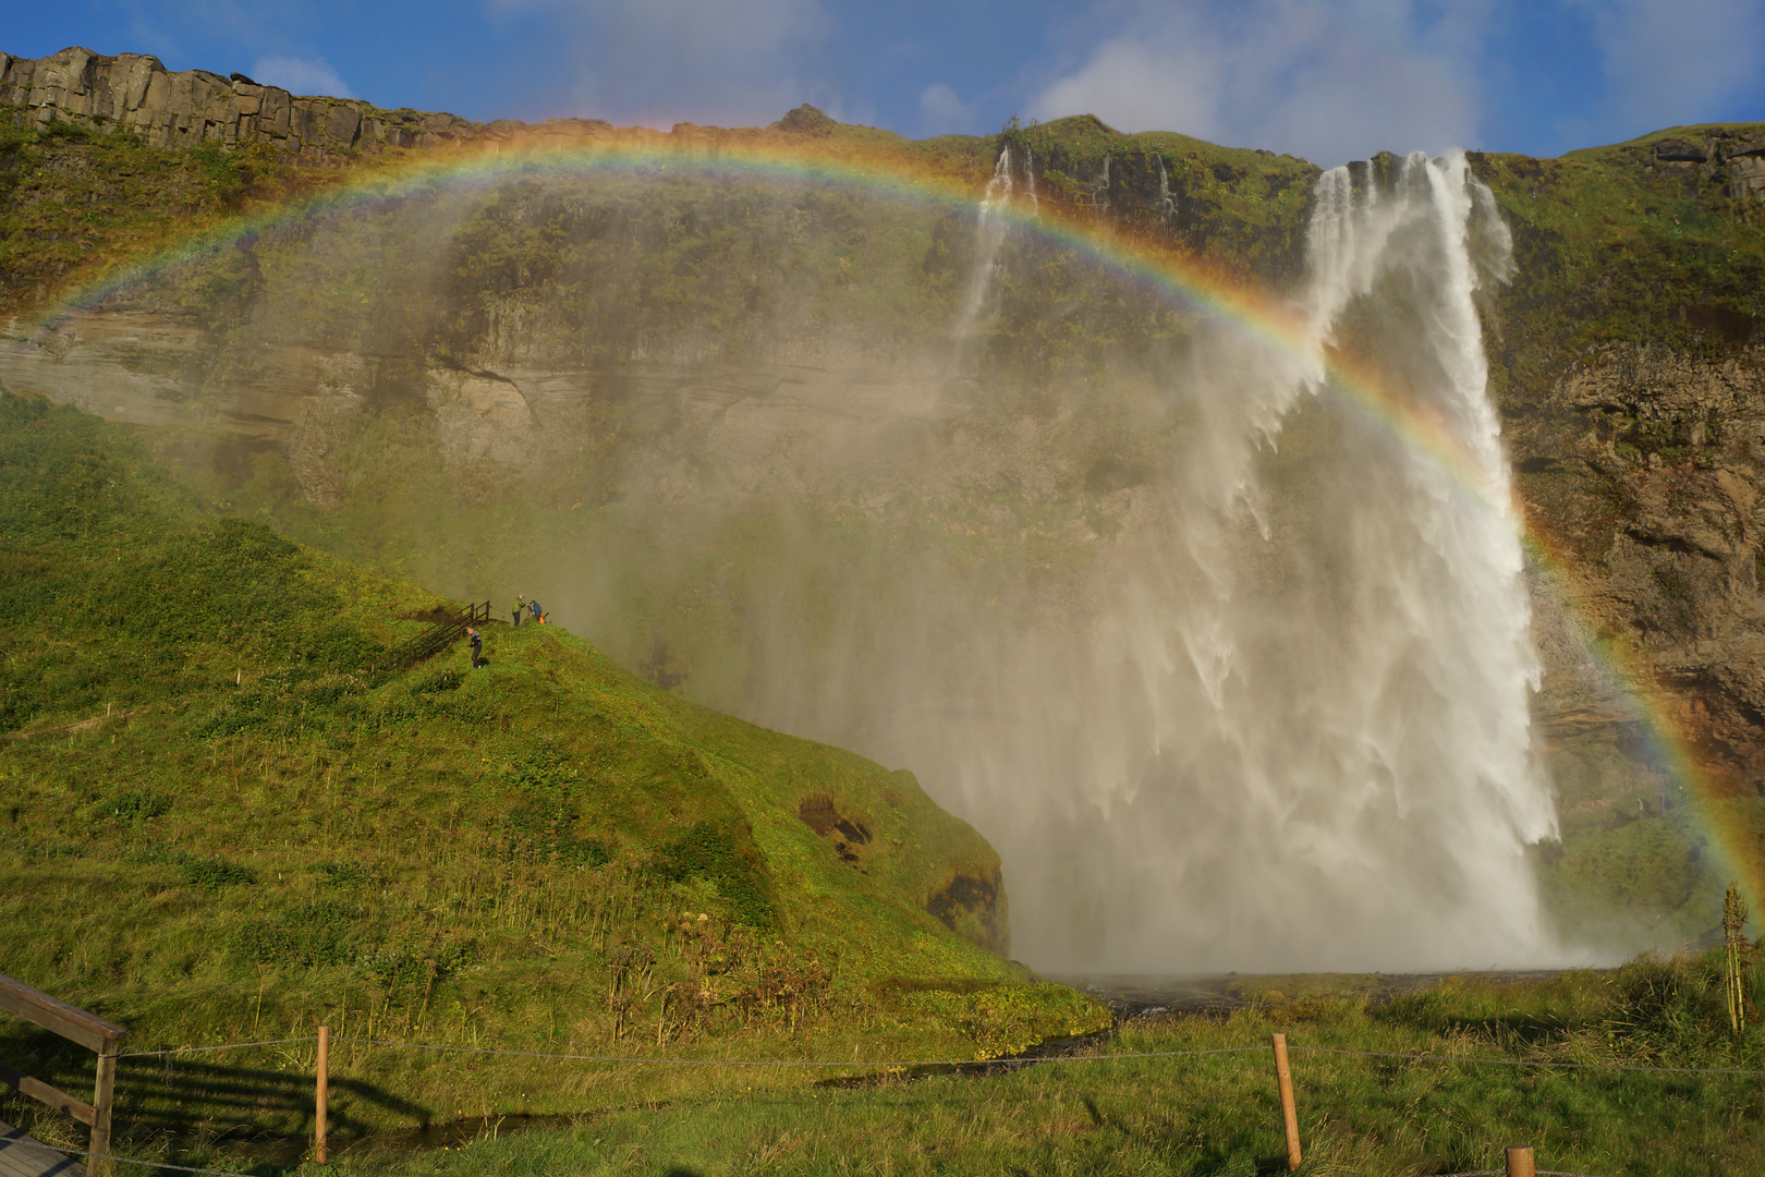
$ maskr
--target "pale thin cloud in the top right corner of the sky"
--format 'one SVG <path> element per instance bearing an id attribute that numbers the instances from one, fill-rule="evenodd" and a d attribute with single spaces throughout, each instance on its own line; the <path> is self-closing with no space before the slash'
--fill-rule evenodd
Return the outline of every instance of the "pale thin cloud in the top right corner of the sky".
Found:
<path id="1" fill-rule="evenodd" d="M 1608 115 L 1636 131 L 1740 116 L 1758 78 L 1758 0 L 1571 0 L 1594 18 Z"/>

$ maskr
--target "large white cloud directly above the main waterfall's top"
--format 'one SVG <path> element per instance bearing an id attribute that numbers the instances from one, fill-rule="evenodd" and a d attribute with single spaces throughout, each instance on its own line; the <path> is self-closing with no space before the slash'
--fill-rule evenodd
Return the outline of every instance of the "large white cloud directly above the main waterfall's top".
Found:
<path id="1" fill-rule="evenodd" d="M 1130 0 L 1031 102 L 1123 131 L 1181 131 L 1331 166 L 1378 150 L 1477 146 L 1491 0 Z"/>

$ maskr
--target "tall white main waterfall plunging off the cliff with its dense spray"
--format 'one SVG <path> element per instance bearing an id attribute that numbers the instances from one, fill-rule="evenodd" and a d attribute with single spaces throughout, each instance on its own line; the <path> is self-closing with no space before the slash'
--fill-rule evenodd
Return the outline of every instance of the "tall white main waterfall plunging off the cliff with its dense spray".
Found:
<path id="1" fill-rule="evenodd" d="M 1191 425 L 1087 626 L 974 637 L 988 672 L 946 704 L 990 718 L 900 731 L 1001 849 L 1013 951 L 1040 967 L 1557 951 L 1525 858 L 1555 810 L 1474 302 L 1511 274 L 1507 229 L 1461 154 L 1417 154 L 1389 192 L 1326 173 L 1308 254 L 1297 346 L 1204 332 L 1170 372 Z M 1338 344 L 1380 394 L 1324 388 Z"/>

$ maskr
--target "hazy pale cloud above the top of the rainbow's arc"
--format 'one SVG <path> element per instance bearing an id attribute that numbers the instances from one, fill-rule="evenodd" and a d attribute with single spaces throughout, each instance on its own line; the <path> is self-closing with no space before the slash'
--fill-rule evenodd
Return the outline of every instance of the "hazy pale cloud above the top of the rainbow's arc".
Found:
<path id="1" fill-rule="evenodd" d="M 560 79 L 579 113 L 667 127 L 770 124 L 803 101 L 835 104 L 805 64 L 830 30 L 821 0 L 485 0 L 554 12 L 574 46 Z"/>

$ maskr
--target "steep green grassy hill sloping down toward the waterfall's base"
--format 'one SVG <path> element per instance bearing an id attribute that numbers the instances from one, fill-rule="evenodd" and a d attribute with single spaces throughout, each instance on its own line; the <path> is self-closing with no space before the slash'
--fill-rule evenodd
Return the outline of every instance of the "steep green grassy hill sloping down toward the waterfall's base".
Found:
<path id="1" fill-rule="evenodd" d="M 118 427 L 0 394 L 0 971 L 131 1048 L 328 1023 L 971 1057 L 1107 1023 L 999 955 L 999 859 L 911 773 L 708 711 L 558 626 L 485 626 L 477 671 L 464 646 L 371 669 L 457 609 L 207 515 Z M 304 1098 L 275 1076 L 309 1052 L 226 1055 L 259 1076 L 249 1098 L 189 1069 L 212 1055 L 125 1064 L 125 1131 L 295 1131 Z M 0 1057 L 71 1091 L 90 1068 L 16 1023 Z M 522 1061 L 341 1061 L 344 1135 L 639 1091 L 605 1068 L 560 1087 Z"/>

